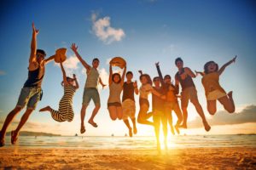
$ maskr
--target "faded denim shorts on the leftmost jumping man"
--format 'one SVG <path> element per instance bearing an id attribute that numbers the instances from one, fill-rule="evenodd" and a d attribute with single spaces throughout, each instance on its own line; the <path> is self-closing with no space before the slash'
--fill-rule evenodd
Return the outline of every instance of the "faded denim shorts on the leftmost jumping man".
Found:
<path id="1" fill-rule="evenodd" d="M 16 106 L 35 110 L 40 100 L 41 88 L 21 88 L 20 97 Z"/>

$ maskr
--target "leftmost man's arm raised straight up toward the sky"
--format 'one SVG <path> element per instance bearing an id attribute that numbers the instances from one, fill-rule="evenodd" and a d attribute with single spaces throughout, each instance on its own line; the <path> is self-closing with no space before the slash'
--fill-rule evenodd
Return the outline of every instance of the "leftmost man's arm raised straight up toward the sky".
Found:
<path id="1" fill-rule="evenodd" d="M 37 36 L 39 30 L 35 28 L 34 23 L 32 23 L 32 40 L 31 40 L 31 53 L 29 57 L 29 63 L 36 62 L 37 59 Z"/>

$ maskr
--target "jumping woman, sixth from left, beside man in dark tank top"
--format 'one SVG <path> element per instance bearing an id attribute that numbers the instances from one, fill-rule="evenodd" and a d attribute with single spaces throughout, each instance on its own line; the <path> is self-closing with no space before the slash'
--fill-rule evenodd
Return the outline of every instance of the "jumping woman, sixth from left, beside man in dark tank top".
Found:
<path id="1" fill-rule="evenodd" d="M 152 80 L 148 74 L 143 74 L 142 71 L 139 71 L 139 72 L 141 73 L 140 81 L 142 83 L 142 86 L 139 89 L 140 111 L 137 116 L 137 122 L 141 124 L 154 126 L 154 122 L 148 121 L 148 118 L 150 116 L 153 116 L 152 112 L 148 113 L 148 108 L 149 108 L 148 94 L 152 93 L 160 97 L 161 99 L 165 99 L 165 96 L 154 90 L 154 88 L 152 87 Z"/>

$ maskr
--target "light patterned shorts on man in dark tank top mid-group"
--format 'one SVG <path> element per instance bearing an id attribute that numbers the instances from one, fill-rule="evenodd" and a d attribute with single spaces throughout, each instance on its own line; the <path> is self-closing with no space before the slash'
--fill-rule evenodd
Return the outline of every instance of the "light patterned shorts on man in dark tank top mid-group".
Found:
<path id="1" fill-rule="evenodd" d="M 131 119 L 135 118 L 136 106 L 132 99 L 125 99 L 122 103 L 123 108 L 123 120 L 127 120 L 128 117 Z"/>

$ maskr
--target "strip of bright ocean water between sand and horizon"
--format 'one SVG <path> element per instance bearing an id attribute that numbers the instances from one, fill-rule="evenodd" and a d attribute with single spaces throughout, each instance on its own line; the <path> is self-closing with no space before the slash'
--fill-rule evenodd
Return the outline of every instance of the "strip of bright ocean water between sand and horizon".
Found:
<path id="1" fill-rule="evenodd" d="M 10 144 L 6 137 L 5 147 L 36 147 L 36 148 L 72 148 L 72 149 L 154 149 L 155 137 L 99 137 L 99 136 L 20 136 L 17 144 Z M 172 136 L 168 139 L 168 148 L 199 148 L 199 147 L 255 147 L 256 135 L 187 135 Z"/>

